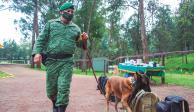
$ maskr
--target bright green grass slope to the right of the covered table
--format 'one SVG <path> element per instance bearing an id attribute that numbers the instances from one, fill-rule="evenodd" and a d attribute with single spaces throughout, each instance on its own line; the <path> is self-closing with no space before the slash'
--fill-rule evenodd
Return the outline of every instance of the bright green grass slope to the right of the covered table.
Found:
<path id="1" fill-rule="evenodd" d="M 185 63 L 185 56 L 173 56 L 166 58 L 165 61 L 165 83 L 194 87 L 194 53 L 187 55 L 188 63 Z M 153 77 L 158 84 L 160 78 Z"/>

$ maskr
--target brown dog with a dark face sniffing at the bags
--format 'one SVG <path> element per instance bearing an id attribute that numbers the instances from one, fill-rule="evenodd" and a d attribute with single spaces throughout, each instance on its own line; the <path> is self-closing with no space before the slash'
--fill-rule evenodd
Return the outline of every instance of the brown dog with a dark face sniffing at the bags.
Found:
<path id="1" fill-rule="evenodd" d="M 123 108 L 131 112 L 129 105 L 135 95 L 142 89 L 151 92 L 149 78 L 142 71 L 136 72 L 133 77 L 128 78 L 111 76 L 106 80 L 105 85 L 106 111 L 109 111 L 109 100 L 114 95 L 116 112 L 118 112 L 117 105 L 119 102 L 122 103 Z"/>

